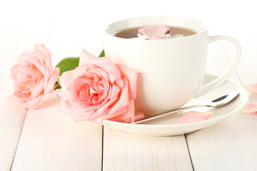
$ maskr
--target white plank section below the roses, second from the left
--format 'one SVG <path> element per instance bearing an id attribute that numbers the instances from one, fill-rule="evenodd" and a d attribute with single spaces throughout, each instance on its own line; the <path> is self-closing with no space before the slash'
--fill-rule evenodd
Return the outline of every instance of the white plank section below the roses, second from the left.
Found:
<path id="1" fill-rule="evenodd" d="M 12 171 L 101 170 L 101 125 L 75 123 L 59 102 L 55 94 L 46 108 L 28 111 Z"/>

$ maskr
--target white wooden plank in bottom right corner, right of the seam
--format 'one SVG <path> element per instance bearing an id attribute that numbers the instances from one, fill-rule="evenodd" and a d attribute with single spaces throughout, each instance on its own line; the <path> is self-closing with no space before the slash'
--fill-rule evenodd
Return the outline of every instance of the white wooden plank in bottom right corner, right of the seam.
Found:
<path id="1" fill-rule="evenodd" d="M 186 135 L 194 170 L 256 170 L 256 115 L 237 113 Z"/>

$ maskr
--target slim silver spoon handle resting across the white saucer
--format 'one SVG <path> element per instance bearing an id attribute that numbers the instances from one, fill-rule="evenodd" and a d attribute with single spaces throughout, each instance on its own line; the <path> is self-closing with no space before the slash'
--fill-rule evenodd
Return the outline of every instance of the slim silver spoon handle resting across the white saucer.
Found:
<path id="1" fill-rule="evenodd" d="M 160 118 L 161 116 L 165 116 L 165 115 L 171 115 L 173 113 L 178 113 L 178 112 L 181 112 L 183 110 L 187 110 L 187 109 L 190 109 L 190 108 L 196 108 L 196 107 L 201 107 L 203 105 L 190 105 L 190 106 L 186 106 L 186 107 L 183 107 L 183 108 L 177 108 L 177 109 L 173 109 L 173 110 L 168 110 L 166 112 L 163 112 L 163 113 L 158 113 L 156 115 L 149 115 L 149 116 L 146 116 L 145 118 L 141 119 L 141 120 L 137 120 L 136 122 L 133 122 L 133 123 L 143 123 L 145 121 L 148 121 L 148 120 L 153 120 L 153 119 L 156 119 L 156 118 Z"/>

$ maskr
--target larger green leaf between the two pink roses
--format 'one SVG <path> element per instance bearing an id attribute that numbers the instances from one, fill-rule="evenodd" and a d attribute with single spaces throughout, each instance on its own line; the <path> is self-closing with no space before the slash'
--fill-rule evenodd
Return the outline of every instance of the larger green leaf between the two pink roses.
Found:
<path id="1" fill-rule="evenodd" d="M 59 76 L 61 76 L 62 73 L 74 70 L 77 66 L 79 66 L 79 57 L 69 57 L 61 60 L 56 67 L 60 68 Z"/>

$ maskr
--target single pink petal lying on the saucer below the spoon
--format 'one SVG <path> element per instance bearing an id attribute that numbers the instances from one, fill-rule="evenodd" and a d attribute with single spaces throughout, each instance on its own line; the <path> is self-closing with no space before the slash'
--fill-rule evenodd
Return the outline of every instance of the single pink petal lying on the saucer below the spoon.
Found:
<path id="1" fill-rule="evenodd" d="M 209 118 L 213 117 L 213 113 L 211 112 L 196 112 L 196 111 L 189 111 L 185 113 L 180 119 L 176 121 L 176 124 L 181 123 L 193 123 L 202 120 L 208 120 Z"/>

